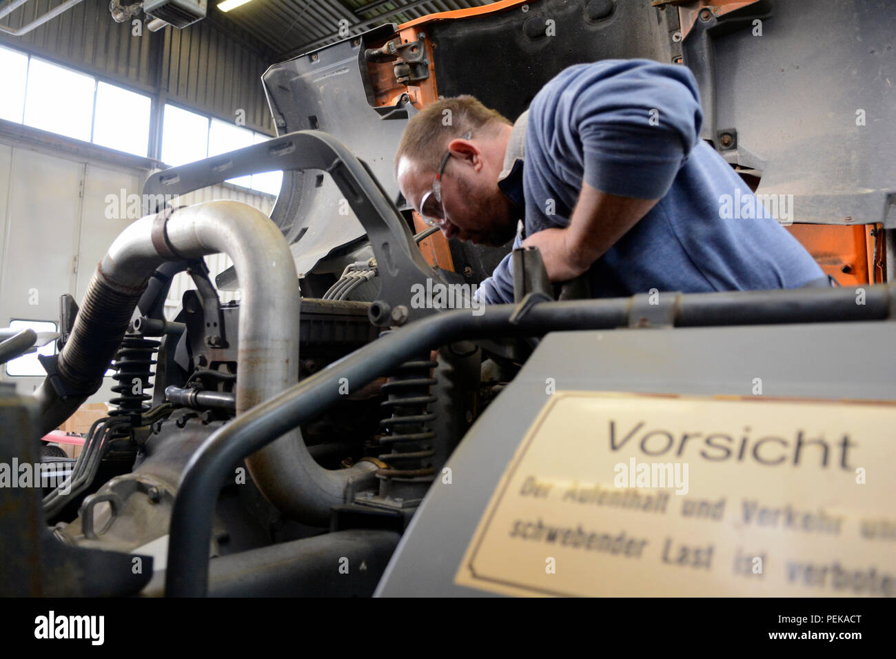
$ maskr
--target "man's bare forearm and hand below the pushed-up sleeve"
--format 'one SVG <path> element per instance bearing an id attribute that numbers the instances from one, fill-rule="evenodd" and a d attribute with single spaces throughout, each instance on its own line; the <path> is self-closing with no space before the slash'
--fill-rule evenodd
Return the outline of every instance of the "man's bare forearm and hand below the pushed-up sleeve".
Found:
<path id="1" fill-rule="evenodd" d="M 538 247 L 551 282 L 568 282 L 604 256 L 658 201 L 607 195 L 583 183 L 569 226 L 533 233 L 522 245 Z"/>

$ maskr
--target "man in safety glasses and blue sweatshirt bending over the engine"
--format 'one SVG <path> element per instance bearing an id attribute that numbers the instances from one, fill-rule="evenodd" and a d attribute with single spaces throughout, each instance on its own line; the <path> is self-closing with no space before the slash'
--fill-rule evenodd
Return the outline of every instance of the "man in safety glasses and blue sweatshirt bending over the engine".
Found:
<path id="1" fill-rule="evenodd" d="M 395 170 L 447 238 L 499 246 L 522 219 L 514 247 L 538 247 L 552 282 L 588 273 L 596 298 L 829 285 L 701 123 L 685 66 L 604 60 L 565 69 L 513 125 L 470 96 L 427 106 Z M 478 299 L 513 302 L 510 255 Z"/>

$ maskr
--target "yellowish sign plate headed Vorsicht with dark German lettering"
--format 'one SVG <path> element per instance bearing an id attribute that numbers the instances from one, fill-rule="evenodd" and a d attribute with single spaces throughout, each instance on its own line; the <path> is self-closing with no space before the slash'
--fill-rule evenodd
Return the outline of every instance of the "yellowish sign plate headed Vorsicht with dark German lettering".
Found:
<path id="1" fill-rule="evenodd" d="M 896 405 L 557 392 L 455 583 L 515 595 L 892 596 Z"/>

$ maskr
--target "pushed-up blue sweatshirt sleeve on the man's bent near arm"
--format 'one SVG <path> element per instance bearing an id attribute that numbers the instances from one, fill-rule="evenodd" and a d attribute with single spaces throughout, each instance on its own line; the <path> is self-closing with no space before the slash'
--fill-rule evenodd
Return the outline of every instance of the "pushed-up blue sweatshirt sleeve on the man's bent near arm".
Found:
<path id="1" fill-rule="evenodd" d="M 557 76 L 556 126 L 578 136 L 583 179 L 610 195 L 659 199 L 700 141 L 702 108 L 686 66 L 644 59 L 571 67 Z"/>

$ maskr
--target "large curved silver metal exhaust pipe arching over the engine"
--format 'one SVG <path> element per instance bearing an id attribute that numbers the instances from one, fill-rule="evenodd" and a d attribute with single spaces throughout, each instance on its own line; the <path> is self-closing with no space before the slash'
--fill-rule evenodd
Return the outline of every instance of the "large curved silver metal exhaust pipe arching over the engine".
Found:
<path id="1" fill-rule="evenodd" d="M 96 379 L 108 368 L 126 321 L 159 264 L 220 252 L 233 259 L 244 292 L 238 329 L 237 417 L 294 386 L 300 296 L 286 239 L 266 215 L 249 205 L 208 202 L 178 209 L 168 217 L 159 213 L 135 221 L 109 247 L 90 282 L 71 338 L 59 355 L 59 377 L 79 395 L 60 399 L 45 380 L 36 393 L 44 425 L 58 426 L 99 388 Z M 115 305 L 108 303 L 110 298 Z M 109 323 L 113 309 L 116 317 Z M 326 521 L 330 508 L 343 503 L 349 483 L 375 481 L 375 464 L 323 469 L 308 453 L 298 429 L 250 455 L 246 464 L 271 504 L 312 524 Z"/>

